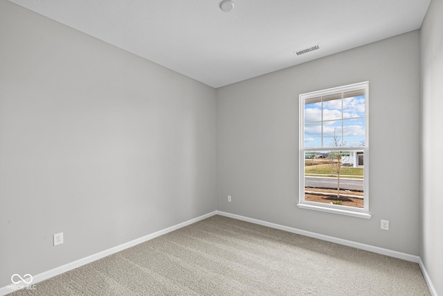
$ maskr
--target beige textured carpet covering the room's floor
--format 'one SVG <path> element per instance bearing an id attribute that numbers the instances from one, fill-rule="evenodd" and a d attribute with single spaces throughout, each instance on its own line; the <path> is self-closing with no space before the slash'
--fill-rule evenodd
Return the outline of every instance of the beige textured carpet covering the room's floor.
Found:
<path id="1" fill-rule="evenodd" d="M 431 295 L 416 263 L 213 216 L 12 295 Z"/>

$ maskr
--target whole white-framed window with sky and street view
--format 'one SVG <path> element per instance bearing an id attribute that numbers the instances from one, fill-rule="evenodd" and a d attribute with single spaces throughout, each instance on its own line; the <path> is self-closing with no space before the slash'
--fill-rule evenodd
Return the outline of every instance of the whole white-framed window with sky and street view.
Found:
<path id="1" fill-rule="evenodd" d="M 369 82 L 300 94 L 298 207 L 370 218 L 368 101 Z"/>

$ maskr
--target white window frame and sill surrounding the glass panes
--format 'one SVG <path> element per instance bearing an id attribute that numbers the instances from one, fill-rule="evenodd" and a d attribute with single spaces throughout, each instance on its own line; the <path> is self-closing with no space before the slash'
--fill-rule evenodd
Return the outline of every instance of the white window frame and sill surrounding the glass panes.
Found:
<path id="1" fill-rule="evenodd" d="M 353 90 L 365 89 L 365 146 L 353 147 L 320 147 L 320 148 L 305 148 L 305 100 L 308 98 L 316 98 L 318 96 L 327 96 L 329 94 L 337 94 L 339 92 L 350 92 Z M 300 137 L 299 137 L 299 167 L 300 167 L 300 193 L 297 207 L 301 209 L 311 209 L 315 211 L 325 211 L 328 213 L 341 214 L 347 216 L 354 216 L 358 218 L 370 219 L 369 213 L 369 82 L 359 82 L 352 85 L 345 85 L 342 87 L 333 87 L 330 89 L 323 89 L 317 92 L 309 92 L 300 94 Z M 323 119 L 322 121 L 323 122 Z M 342 138 L 343 139 L 343 138 Z M 331 150 L 363 150 L 363 208 L 349 207 L 338 204 L 327 204 L 322 202 L 311 202 L 305 200 L 305 152 L 312 150 L 316 151 L 331 151 Z"/>

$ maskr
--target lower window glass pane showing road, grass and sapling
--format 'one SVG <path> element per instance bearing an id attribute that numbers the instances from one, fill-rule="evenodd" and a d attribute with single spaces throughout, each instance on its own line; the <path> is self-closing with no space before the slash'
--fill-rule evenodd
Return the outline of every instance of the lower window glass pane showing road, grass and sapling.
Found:
<path id="1" fill-rule="evenodd" d="M 356 155 L 355 150 L 305 153 L 305 201 L 363 208 L 363 167 L 357 167 Z"/>

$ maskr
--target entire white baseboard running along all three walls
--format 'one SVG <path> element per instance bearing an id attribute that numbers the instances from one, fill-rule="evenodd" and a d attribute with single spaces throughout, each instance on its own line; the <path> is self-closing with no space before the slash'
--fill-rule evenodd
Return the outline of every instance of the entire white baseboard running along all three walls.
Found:
<path id="1" fill-rule="evenodd" d="M 118 245 L 116 247 L 111 247 L 108 250 L 102 251 L 102 252 L 98 252 L 96 254 L 93 254 L 91 256 L 87 256 L 84 257 L 82 259 L 79 259 L 77 261 L 73 261 L 71 263 L 62 265 L 58 268 L 53 268 L 52 270 L 48 270 L 46 272 L 42 272 L 39 275 L 35 275 L 33 277 L 33 282 L 31 284 L 37 284 L 39 281 L 44 281 L 45 279 L 50 279 L 51 277 L 55 277 L 56 275 L 61 275 L 63 272 L 67 272 L 69 270 L 73 270 L 75 268 L 78 268 L 82 265 L 85 265 L 87 263 L 91 263 L 93 261 L 96 261 L 98 259 L 102 259 L 105 256 L 109 256 L 111 254 L 114 254 L 116 252 L 120 252 L 122 250 L 127 249 L 128 247 L 133 247 L 134 245 L 138 245 L 139 243 L 144 243 L 145 241 L 150 241 L 152 238 L 156 238 L 157 236 L 161 236 L 163 234 L 167 234 L 169 232 L 173 232 L 174 230 L 177 230 L 181 227 L 185 227 L 188 225 L 191 225 L 192 223 L 196 223 L 199 220 L 204 220 L 206 218 L 209 218 L 210 216 L 214 216 L 214 215 L 220 215 L 220 216 L 226 216 L 229 218 L 234 218 L 237 220 L 243 220 L 246 222 L 250 222 L 250 223 L 254 223 L 257 225 L 263 225 L 266 227 L 271 227 L 271 228 L 275 228 L 275 229 L 280 229 L 283 230 L 285 232 L 291 232 L 294 234 L 300 234 L 302 236 L 309 236 L 311 238 L 318 238 L 322 241 L 329 241 L 331 243 L 338 243 L 340 245 L 346 245 L 348 247 L 355 247 L 356 249 L 360 249 L 360 250 L 365 250 L 368 252 L 374 252 L 377 254 L 383 254 L 386 256 L 391 256 L 397 259 L 403 259 L 406 261 L 412 261 L 415 263 L 419 263 L 420 268 L 422 269 L 423 275 L 424 275 L 424 279 L 426 280 L 426 284 L 428 284 L 428 288 L 429 290 L 431 290 L 431 294 L 433 296 L 437 296 L 437 291 L 435 290 L 431 278 L 428 275 L 428 272 L 426 271 L 426 268 L 424 266 L 424 263 L 422 261 L 422 259 L 419 256 L 415 256 L 415 255 L 410 255 L 410 254 L 406 254 L 406 253 L 402 253 L 402 252 L 397 252 L 397 251 L 393 251 L 393 250 L 388 250 L 388 249 L 384 249 L 382 247 L 375 247 L 373 245 L 366 245 L 364 243 L 356 243 L 354 241 L 347 241 L 345 239 L 342 238 L 335 238 L 333 236 L 325 236 L 323 234 L 316 234 L 315 232 L 307 232 L 305 230 L 302 229 L 297 229 L 297 228 L 293 228 L 293 227 L 288 227 L 288 226 L 284 226 L 284 225 L 279 225 L 279 224 L 275 224 L 275 223 L 270 223 L 270 222 L 266 222 L 263 220 L 257 220 L 254 218 L 248 218 L 248 217 L 244 217 L 244 216 L 239 216 L 236 214 L 230 214 L 230 213 L 226 213 L 224 211 L 213 211 L 210 212 L 208 214 L 205 214 L 203 216 L 199 216 L 197 218 L 193 218 L 191 220 L 188 220 L 186 222 L 174 225 L 172 227 L 168 227 L 166 229 L 160 230 L 158 232 L 154 232 L 153 234 L 148 234 L 147 236 L 143 236 L 141 238 L 137 238 L 134 241 L 129 241 L 128 243 L 123 243 L 122 245 Z M 20 284 L 19 284 L 20 285 Z M 25 285 L 26 286 L 26 285 Z M 8 288 L 8 286 L 2 287 L 0 288 L 0 296 L 2 295 L 6 295 L 8 293 L 12 293 L 14 292 L 14 290 L 11 290 L 10 288 Z"/>

